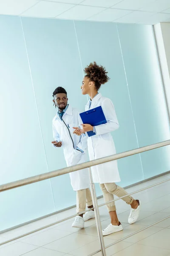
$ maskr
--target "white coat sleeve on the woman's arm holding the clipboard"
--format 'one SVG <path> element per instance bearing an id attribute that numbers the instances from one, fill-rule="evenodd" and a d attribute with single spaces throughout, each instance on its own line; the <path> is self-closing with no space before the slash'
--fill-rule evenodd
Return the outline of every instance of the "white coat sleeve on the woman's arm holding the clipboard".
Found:
<path id="1" fill-rule="evenodd" d="M 96 135 L 106 134 L 108 132 L 115 131 L 119 128 L 116 112 L 113 103 L 110 99 L 105 99 L 102 102 L 102 110 L 105 115 L 107 123 L 103 125 L 97 125 L 94 127 Z"/>

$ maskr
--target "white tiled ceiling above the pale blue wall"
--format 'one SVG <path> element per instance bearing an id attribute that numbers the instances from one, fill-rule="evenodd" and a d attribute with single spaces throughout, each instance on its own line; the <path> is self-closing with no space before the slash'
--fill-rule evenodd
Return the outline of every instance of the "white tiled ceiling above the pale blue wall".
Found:
<path id="1" fill-rule="evenodd" d="M 156 24 L 170 22 L 170 0 L 0 0 L 0 14 Z"/>

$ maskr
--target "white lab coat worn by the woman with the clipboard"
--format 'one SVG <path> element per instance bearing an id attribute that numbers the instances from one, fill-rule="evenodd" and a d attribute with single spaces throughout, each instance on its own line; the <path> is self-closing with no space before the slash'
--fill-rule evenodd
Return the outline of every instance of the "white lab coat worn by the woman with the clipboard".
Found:
<path id="1" fill-rule="evenodd" d="M 85 111 L 89 110 L 90 100 L 85 106 Z M 88 137 L 88 153 L 90 160 L 116 154 L 115 145 L 111 131 L 119 128 L 113 103 L 110 99 L 97 94 L 91 101 L 91 107 L 96 108 L 102 106 L 103 113 L 107 120 L 106 124 L 95 126 L 96 135 Z M 94 183 L 112 183 L 119 182 L 120 176 L 117 167 L 117 161 L 103 163 L 98 166 L 91 167 Z"/>

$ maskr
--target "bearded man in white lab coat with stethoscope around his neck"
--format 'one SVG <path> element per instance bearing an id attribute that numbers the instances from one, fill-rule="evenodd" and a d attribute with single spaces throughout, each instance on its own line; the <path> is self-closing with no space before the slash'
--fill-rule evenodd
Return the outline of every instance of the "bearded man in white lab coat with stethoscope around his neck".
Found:
<path id="1" fill-rule="evenodd" d="M 84 135 L 76 136 L 73 134 L 75 126 L 80 127 L 82 124 L 79 111 L 68 105 L 67 92 L 62 87 L 57 87 L 53 93 L 53 102 L 58 108 L 54 116 L 53 137 L 54 147 L 63 148 L 67 166 L 73 166 L 86 161 L 87 138 Z M 86 203 L 88 208 L 93 207 L 91 191 L 89 189 L 88 170 L 83 169 L 70 174 L 71 186 L 77 191 L 77 213 L 85 211 Z M 84 222 L 94 218 L 94 211 L 90 210 L 84 215 L 77 215 L 72 227 L 84 227 Z"/>

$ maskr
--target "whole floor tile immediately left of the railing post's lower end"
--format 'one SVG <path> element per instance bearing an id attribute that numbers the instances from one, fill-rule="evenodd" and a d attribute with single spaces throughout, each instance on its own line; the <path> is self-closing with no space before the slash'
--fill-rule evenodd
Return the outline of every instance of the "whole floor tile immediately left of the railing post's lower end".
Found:
<path id="1" fill-rule="evenodd" d="M 62 253 L 70 253 L 71 251 L 76 250 L 79 247 L 89 244 L 97 239 L 97 236 L 86 236 L 79 233 L 73 233 L 50 244 L 46 244 L 43 247 L 51 250 L 57 250 Z"/>

